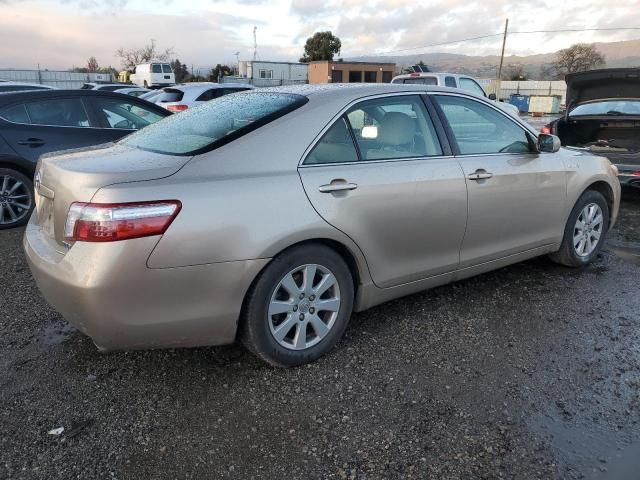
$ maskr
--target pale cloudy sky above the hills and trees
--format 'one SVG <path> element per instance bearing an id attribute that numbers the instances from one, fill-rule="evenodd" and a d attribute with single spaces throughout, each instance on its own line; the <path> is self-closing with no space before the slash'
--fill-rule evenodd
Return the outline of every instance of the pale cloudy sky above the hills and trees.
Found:
<path id="1" fill-rule="evenodd" d="M 189 68 L 233 65 L 253 56 L 297 61 L 307 37 L 330 30 L 341 57 L 449 52 L 500 53 L 510 31 L 640 25 L 640 0 L 0 0 L 0 68 L 67 69 L 95 56 L 120 68 L 115 51 L 154 39 Z M 507 55 L 547 53 L 577 42 L 640 38 L 640 30 L 513 34 Z M 382 58 L 381 61 L 384 61 Z"/>

